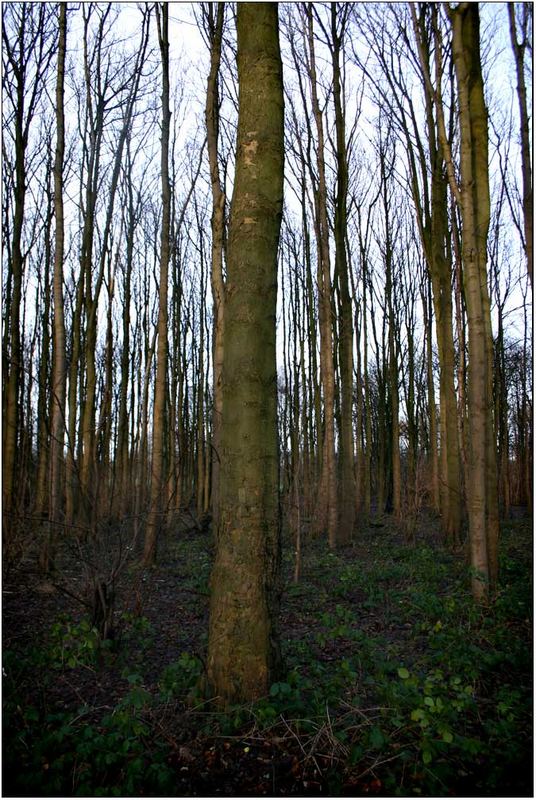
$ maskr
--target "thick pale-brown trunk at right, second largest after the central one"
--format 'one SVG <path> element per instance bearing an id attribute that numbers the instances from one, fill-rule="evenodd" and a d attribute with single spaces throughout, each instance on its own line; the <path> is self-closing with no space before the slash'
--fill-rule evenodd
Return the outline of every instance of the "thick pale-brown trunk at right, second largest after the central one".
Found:
<path id="1" fill-rule="evenodd" d="M 467 475 L 473 595 L 485 600 L 497 580 L 499 513 L 493 424 L 493 337 L 487 282 L 490 222 L 488 114 L 480 61 L 478 5 L 449 9 L 460 119 L 462 255 L 469 334 L 469 470 Z"/>

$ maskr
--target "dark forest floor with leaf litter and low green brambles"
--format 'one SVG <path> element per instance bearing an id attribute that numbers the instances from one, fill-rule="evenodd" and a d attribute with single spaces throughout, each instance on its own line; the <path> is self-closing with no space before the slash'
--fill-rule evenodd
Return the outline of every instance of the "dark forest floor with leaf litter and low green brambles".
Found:
<path id="1" fill-rule="evenodd" d="M 198 688 L 211 535 L 175 530 L 154 569 L 132 549 L 104 642 L 72 595 L 117 532 L 62 550 L 53 582 L 29 557 L 4 577 L 4 797 L 532 796 L 531 519 L 502 525 L 486 608 L 431 517 L 411 543 L 387 517 L 306 542 L 298 583 L 287 541 L 286 674 L 226 714 Z"/>

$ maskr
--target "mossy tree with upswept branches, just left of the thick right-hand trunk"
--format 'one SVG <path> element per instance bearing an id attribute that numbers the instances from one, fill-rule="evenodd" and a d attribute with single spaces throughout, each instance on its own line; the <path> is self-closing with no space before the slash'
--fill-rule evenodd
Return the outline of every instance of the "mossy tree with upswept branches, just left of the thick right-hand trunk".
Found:
<path id="1" fill-rule="evenodd" d="M 368 22 L 372 48 L 385 80 L 377 81 L 375 92 L 381 98 L 393 124 L 393 132 L 404 145 L 407 161 L 407 187 L 415 206 L 418 231 L 424 250 L 433 288 L 436 332 L 440 365 L 440 465 L 435 442 L 435 402 L 430 404 L 430 456 L 432 466 L 432 496 L 440 505 L 445 534 L 451 541 L 459 537 L 461 526 L 460 458 L 457 432 L 456 394 L 454 385 L 455 348 L 452 334 L 452 263 L 449 259 L 447 184 L 445 165 L 438 138 L 444 130 L 441 99 L 441 80 L 444 71 L 440 35 L 437 28 L 437 8 L 434 4 L 411 6 L 417 53 L 407 32 L 408 18 L 399 7 L 389 6 L 392 20 L 373 18 Z M 373 29 L 379 30 L 377 36 Z M 404 47 L 397 42 L 401 40 Z M 435 42 L 435 51 L 433 43 Z M 433 55 L 432 55 L 433 54 Z M 435 85 L 430 69 L 435 66 Z M 418 89 L 411 84 L 415 67 Z M 370 68 L 366 69 L 369 77 Z M 416 98 L 424 88 L 424 108 L 420 112 Z M 420 112 L 420 113 L 419 113 Z M 422 116 L 423 115 L 423 116 Z M 425 126 L 423 130 L 423 118 Z M 441 127 L 443 126 L 443 127 Z M 446 135 L 446 134 L 445 134 Z M 441 467 L 441 475 L 438 472 Z M 441 491 L 440 491 L 441 487 Z M 438 495 L 440 492 L 440 504 Z"/>

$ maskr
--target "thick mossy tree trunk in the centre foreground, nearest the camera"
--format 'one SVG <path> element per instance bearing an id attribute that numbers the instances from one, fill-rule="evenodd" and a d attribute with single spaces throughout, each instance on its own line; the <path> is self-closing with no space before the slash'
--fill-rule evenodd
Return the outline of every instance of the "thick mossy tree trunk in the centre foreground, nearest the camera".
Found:
<path id="1" fill-rule="evenodd" d="M 222 704 L 266 694 L 279 662 L 275 312 L 284 151 L 277 5 L 240 3 L 237 34 L 239 119 L 207 661 L 210 690 Z"/>

